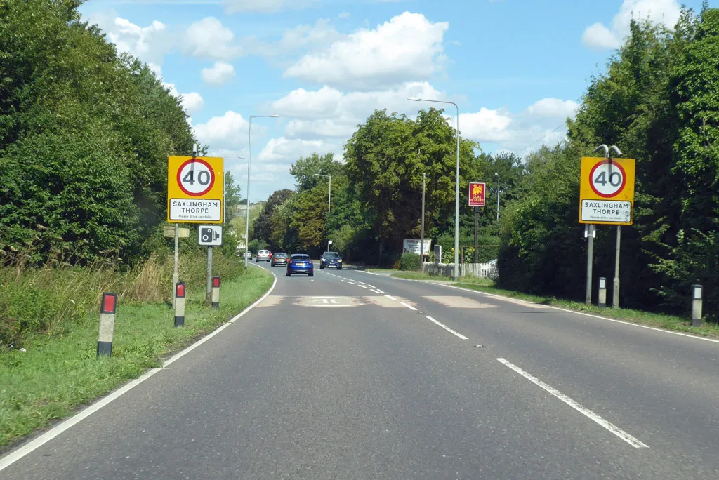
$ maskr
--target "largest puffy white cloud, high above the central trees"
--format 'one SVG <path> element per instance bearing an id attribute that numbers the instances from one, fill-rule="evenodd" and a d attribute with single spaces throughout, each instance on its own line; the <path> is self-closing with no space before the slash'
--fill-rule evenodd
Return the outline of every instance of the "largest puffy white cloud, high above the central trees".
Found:
<path id="1" fill-rule="evenodd" d="M 431 23 L 406 11 L 376 29 L 359 29 L 324 51 L 301 57 L 284 76 L 357 90 L 427 80 L 443 68 L 447 29 L 447 22 Z"/>

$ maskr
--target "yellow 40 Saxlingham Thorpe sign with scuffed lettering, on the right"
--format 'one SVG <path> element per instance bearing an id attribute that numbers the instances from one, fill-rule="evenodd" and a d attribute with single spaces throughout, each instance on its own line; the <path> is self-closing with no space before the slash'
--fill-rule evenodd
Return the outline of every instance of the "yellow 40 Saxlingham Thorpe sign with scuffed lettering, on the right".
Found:
<path id="1" fill-rule="evenodd" d="M 632 158 L 582 157 L 580 223 L 632 224 L 635 164 Z"/>

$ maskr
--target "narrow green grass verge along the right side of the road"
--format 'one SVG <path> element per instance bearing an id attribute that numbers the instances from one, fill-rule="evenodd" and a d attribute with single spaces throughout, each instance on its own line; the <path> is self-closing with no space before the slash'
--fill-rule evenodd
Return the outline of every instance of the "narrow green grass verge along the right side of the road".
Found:
<path id="1" fill-rule="evenodd" d="M 719 338 L 719 326 L 716 323 L 702 322 L 701 327 L 692 327 L 691 320 L 689 318 L 666 315 L 663 313 L 644 312 L 641 310 L 629 310 L 626 308 L 598 308 L 596 305 L 587 305 L 586 303 L 576 302 L 574 300 L 541 297 L 522 292 L 514 292 L 512 290 L 503 290 L 495 287 L 494 282 L 486 278 L 464 277 L 459 282 L 454 282 L 448 277 L 439 277 L 420 272 L 397 272 L 391 276 L 407 280 L 432 280 L 434 282 L 443 282 L 448 283 L 449 285 L 467 288 L 469 290 L 477 290 L 478 292 L 503 295 L 505 297 L 526 300 L 527 302 L 532 303 L 540 303 L 542 305 L 551 305 L 553 307 L 565 308 L 576 312 L 591 313 L 592 315 L 614 318 L 616 320 L 624 320 L 638 325 L 664 328 L 669 331 L 691 333 L 692 335 L 697 336 Z"/>

